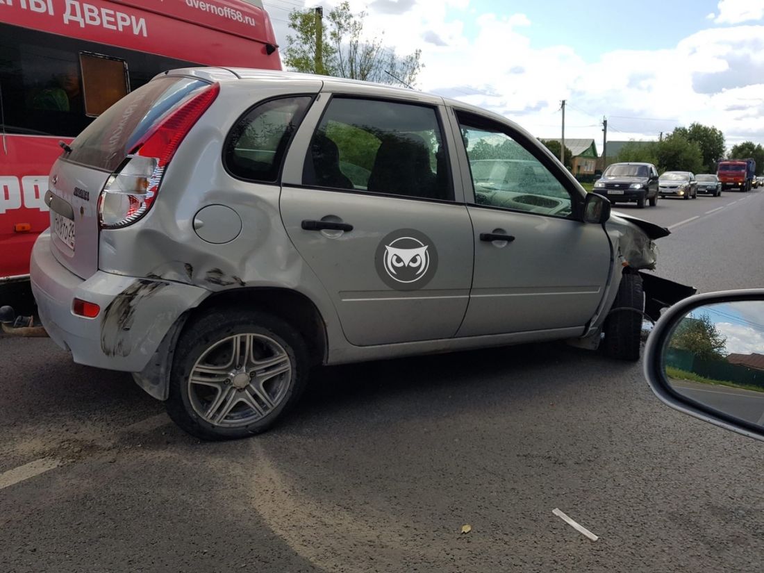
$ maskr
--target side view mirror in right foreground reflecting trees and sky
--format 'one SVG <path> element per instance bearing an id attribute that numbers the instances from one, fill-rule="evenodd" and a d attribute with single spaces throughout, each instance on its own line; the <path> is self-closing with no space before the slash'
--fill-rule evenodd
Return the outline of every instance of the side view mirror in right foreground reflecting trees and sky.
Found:
<path id="1" fill-rule="evenodd" d="M 764 441 L 764 289 L 676 303 L 652 330 L 644 367 L 675 410 Z"/>

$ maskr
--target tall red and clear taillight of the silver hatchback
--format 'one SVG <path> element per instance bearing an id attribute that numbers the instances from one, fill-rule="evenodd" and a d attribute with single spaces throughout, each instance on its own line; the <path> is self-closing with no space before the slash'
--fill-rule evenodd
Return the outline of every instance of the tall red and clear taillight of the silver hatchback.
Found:
<path id="1" fill-rule="evenodd" d="M 180 105 L 133 147 L 108 177 L 99 196 L 101 228 L 120 228 L 141 219 L 159 193 L 167 165 L 183 138 L 220 92 L 218 83 Z"/>

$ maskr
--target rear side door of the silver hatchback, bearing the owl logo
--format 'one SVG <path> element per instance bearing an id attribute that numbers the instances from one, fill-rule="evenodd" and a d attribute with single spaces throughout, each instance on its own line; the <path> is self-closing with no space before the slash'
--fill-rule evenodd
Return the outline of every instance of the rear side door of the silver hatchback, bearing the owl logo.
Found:
<path id="1" fill-rule="evenodd" d="M 454 336 L 473 244 L 442 107 L 351 95 L 320 107 L 290 150 L 299 175 L 285 176 L 280 209 L 346 338 L 380 345 Z"/>

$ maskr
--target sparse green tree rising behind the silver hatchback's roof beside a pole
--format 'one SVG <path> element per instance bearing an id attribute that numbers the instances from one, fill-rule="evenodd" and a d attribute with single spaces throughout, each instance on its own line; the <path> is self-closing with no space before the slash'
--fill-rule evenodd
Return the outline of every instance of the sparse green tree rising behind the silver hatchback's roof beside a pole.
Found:
<path id="1" fill-rule="evenodd" d="M 422 70 L 421 50 L 401 57 L 385 47 L 381 38 L 365 39 L 365 18 L 366 12 L 351 12 L 348 2 L 332 8 L 322 27 L 321 62 L 316 63 L 315 12 L 312 9 L 293 10 L 289 24 L 294 34 L 286 37 L 284 64 L 298 72 L 394 85 L 402 81 L 413 85 Z"/>

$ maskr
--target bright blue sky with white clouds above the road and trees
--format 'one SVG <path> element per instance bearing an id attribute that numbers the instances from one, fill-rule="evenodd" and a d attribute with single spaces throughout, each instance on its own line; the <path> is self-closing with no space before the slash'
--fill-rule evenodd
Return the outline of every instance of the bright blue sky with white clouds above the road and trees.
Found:
<path id="1" fill-rule="evenodd" d="M 264 0 L 286 45 L 286 10 Z M 348 0 L 367 37 L 422 50 L 416 88 L 490 109 L 532 134 L 657 140 L 693 122 L 727 147 L 764 144 L 764 0 Z"/>

